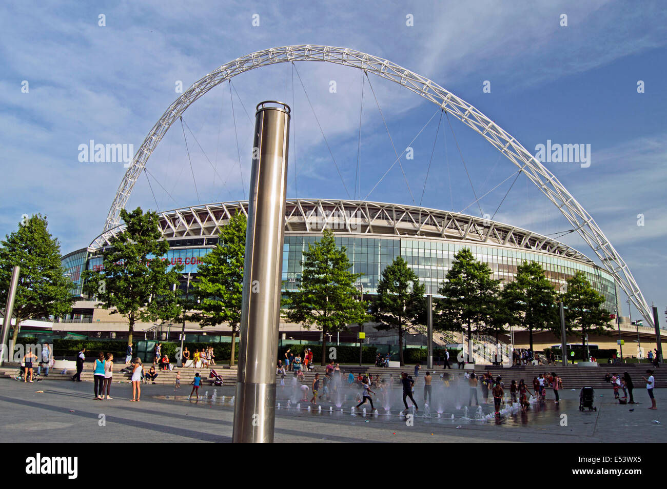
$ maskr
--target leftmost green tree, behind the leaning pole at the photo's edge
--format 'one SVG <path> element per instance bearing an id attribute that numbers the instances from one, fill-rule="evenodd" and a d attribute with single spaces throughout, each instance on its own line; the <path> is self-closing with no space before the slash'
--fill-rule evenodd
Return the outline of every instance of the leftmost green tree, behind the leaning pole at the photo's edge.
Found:
<path id="1" fill-rule="evenodd" d="M 46 217 L 33 215 L 19 229 L 5 235 L 0 247 L 0 302 L 7 293 L 14 266 L 21 267 L 13 316 L 12 339 L 16 343 L 21 321 L 30 318 L 64 316 L 71 311 L 75 284 L 65 276 L 60 260 L 60 244 L 51 237 Z"/>

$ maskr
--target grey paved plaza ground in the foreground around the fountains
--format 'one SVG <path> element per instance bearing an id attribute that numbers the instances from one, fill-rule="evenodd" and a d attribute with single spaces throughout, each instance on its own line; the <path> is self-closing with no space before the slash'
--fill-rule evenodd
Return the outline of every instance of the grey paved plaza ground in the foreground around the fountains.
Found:
<path id="1" fill-rule="evenodd" d="M 44 392 L 35 392 L 43 390 Z M 203 388 L 202 394 L 212 388 Z M 0 379 L 0 440 L 3 442 L 228 442 L 233 422 L 232 388 L 217 388 L 217 399 L 187 401 L 190 388 L 178 392 L 171 386 L 145 385 L 141 402 L 129 402 L 129 383 L 115 383 L 113 400 L 93 400 L 92 382 L 43 380 L 23 384 Z M 562 391 L 562 401 L 532 405 L 529 412 L 508 412 L 500 419 L 487 416 L 491 405 L 482 405 L 488 420 L 466 419 L 457 409 L 455 396 L 432 402 L 430 418 L 424 417 L 422 399 L 416 396 L 420 411 L 409 419 L 399 416 L 400 391 L 394 390 L 390 414 L 382 407 L 372 416 L 350 414 L 355 391 L 347 399 L 321 402 L 322 411 L 287 405 L 289 388 L 278 393 L 281 408 L 276 411 L 275 442 L 662 442 L 665 439 L 662 415 L 667 408 L 667 390 L 656 390 L 658 410 L 650 406 L 645 389 L 635 390 L 640 404 L 620 405 L 612 391 L 596 396 L 598 410 L 580 412 L 579 392 Z M 416 392 L 420 392 L 418 388 Z M 442 394 L 434 392 L 434 394 Z M 226 396 L 223 402 L 221 396 Z M 466 394 L 467 396 L 467 394 Z M 444 397 L 444 396 L 443 396 Z M 549 396 L 553 399 L 553 396 Z M 385 404 L 386 402 L 382 403 Z M 337 407 L 336 404 L 341 404 Z M 376 401 L 376 404 L 381 404 Z M 441 405 L 442 404 L 442 405 Z M 333 412 L 329 413 L 329 407 Z M 340 412 L 340 409 L 344 412 Z M 378 406 L 376 406 L 378 408 Z M 438 418 L 436 410 L 442 410 Z M 473 408 L 468 418 L 474 418 Z M 565 414 L 566 418 L 562 418 Z M 454 415 L 452 420 L 451 416 Z M 566 420 L 567 426 L 561 426 Z M 99 426 L 105 421 L 105 426 Z M 661 424 L 656 423 L 660 422 Z"/>

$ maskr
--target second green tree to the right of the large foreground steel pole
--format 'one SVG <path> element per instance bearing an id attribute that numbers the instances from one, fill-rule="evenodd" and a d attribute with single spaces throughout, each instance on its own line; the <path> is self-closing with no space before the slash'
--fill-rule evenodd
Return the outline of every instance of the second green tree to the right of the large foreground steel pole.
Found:
<path id="1" fill-rule="evenodd" d="M 384 269 L 378 283 L 378 296 L 372 307 L 376 320 L 381 323 L 376 329 L 398 331 L 401 365 L 404 364 L 403 334 L 422 317 L 424 292 L 426 286 L 401 256 Z"/>

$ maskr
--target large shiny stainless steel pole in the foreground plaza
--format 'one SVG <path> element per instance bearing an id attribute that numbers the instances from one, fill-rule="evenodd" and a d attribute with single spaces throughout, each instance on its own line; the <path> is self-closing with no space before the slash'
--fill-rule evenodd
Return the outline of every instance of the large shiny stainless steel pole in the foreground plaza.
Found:
<path id="1" fill-rule="evenodd" d="M 289 107 L 259 103 L 245 233 L 236 443 L 273 442 L 288 146 Z"/>

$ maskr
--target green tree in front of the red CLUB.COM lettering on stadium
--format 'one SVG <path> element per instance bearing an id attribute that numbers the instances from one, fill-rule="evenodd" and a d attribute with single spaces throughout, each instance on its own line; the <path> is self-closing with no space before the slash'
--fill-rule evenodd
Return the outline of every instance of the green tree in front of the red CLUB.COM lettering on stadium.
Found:
<path id="1" fill-rule="evenodd" d="M 102 252 L 103 270 L 84 272 L 84 290 L 95 296 L 111 314 L 127 319 L 132 342 L 137 320 L 152 322 L 167 320 L 177 315 L 179 272 L 183 265 L 161 259 L 169 250 L 160 232 L 157 213 L 143 213 L 137 207 L 131 213 L 121 209 L 125 231 L 113 239 Z"/>

